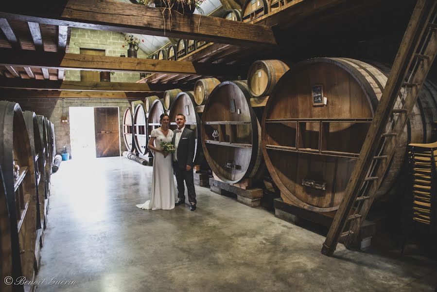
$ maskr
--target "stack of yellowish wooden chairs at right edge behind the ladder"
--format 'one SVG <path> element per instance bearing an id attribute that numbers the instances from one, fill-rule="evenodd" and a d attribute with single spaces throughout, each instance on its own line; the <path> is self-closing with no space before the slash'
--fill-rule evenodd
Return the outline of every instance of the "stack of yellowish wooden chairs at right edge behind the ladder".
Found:
<path id="1" fill-rule="evenodd" d="M 437 142 L 409 144 L 409 170 L 411 174 L 412 228 L 426 231 L 426 241 L 437 254 Z M 414 228 L 416 230 L 416 228 Z M 410 229 L 412 230 L 412 229 Z M 406 237 L 405 237 L 406 239 Z M 402 244 L 402 252 L 405 240 Z M 434 246 L 434 247 L 433 247 Z"/>

